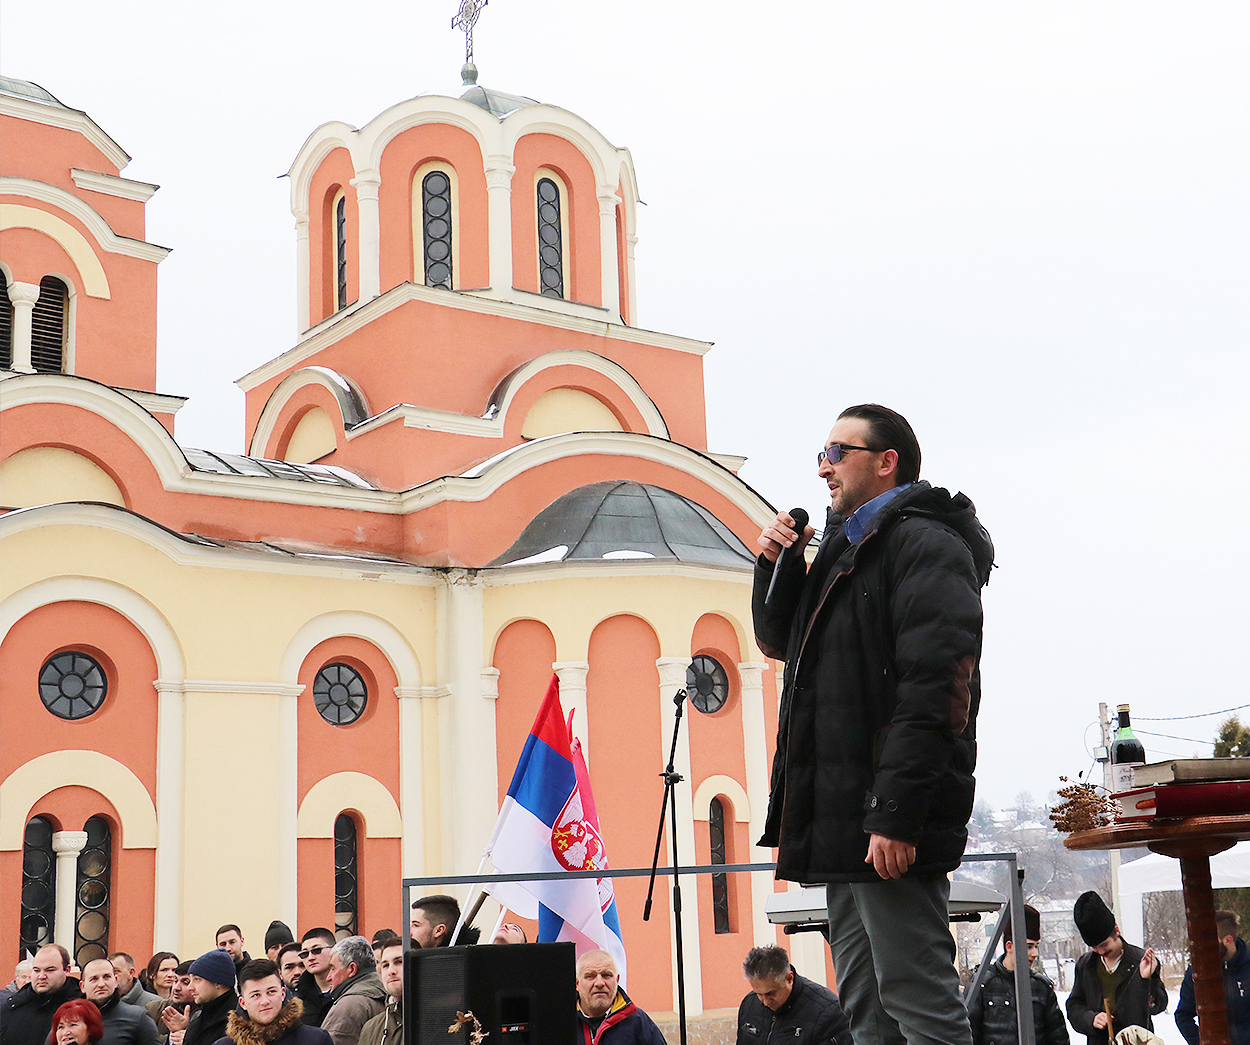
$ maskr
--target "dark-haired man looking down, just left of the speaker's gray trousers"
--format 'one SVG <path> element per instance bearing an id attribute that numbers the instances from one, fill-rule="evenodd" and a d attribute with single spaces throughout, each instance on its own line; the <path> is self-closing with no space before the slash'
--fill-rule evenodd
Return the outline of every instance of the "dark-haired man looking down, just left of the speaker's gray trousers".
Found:
<path id="1" fill-rule="evenodd" d="M 838 995 L 800 976 L 784 948 L 751 948 L 742 975 L 751 992 L 738 1006 L 738 1045 L 851 1045 L 851 1026 Z"/>

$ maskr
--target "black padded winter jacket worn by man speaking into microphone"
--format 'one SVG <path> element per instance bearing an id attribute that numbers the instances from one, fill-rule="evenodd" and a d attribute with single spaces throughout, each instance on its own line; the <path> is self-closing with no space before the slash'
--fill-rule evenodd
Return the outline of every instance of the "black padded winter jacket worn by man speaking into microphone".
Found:
<path id="1" fill-rule="evenodd" d="M 779 879 L 876 881 L 869 832 L 910 842 L 909 874 L 959 866 L 972 812 L 981 586 L 994 545 L 962 494 L 899 494 L 851 545 L 830 512 L 810 569 L 791 562 L 755 636 L 784 659 L 768 821 Z"/>

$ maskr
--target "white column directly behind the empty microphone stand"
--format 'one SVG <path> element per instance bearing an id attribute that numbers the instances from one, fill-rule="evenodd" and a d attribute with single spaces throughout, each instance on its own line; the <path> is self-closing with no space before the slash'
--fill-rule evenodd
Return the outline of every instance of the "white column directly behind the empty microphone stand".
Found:
<path id="1" fill-rule="evenodd" d="M 672 698 L 678 690 L 685 688 L 689 665 L 690 658 L 688 656 L 661 656 L 655 661 L 660 672 L 660 765 L 669 762 L 675 708 Z M 678 750 L 672 760 L 672 768 L 682 778 L 681 782 L 672 789 L 672 802 L 678 811 L 678 859 L 682 866 L 688 868 L 699 862 L 695 859 L 698 854 L 695 852 L 694 785 L 690 780 L 690 715 L 691 708 L 688 702 L 682 710 L 684 721 L 678 732 Z M 671 828 L 671 819 L 665 818 L 665 828 Z M 671 839 L 668 839 L 665 855 L 671 862 Z M 671 879 L 665 885 L 671 895 Z M 681 942 L 686 972 L 686 1015 L 700 1016 L 702 1015 L 702 960 L 699 940 L 699 881 L 694 876 L 686 876 L 681 882 Z M 672 941 L 672 1011 L 678 1011 L 678 946 L 675 939 Z"/>

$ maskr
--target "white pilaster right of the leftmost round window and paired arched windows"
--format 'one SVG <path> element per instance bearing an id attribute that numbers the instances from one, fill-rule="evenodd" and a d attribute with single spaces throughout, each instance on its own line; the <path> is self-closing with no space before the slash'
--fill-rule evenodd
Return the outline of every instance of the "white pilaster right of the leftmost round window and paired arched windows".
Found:
<path id="1" fill-rule="evenodd" d="M 186 816 L 186 706 L 180 681 L 156 686 L 156 904 L 152 945 L 182 939 L 182 820 Z"/>

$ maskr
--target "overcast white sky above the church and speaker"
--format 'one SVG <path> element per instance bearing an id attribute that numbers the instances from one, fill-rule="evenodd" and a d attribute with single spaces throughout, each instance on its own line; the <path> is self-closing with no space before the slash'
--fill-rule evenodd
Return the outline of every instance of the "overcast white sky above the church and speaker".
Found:
<path id="1" fill-rule="evenodd" d="M 0 70 L 162 188 L 161 391 L 242 451 L 232 381 L 294 344 L 288 182 L 321 122 L 459 94 L 455 0 L 5 4 Z M 980 795 L 1135 719 L 1250 702 L 1250 8 L 492 0 L 481 84 L 629 146 L 640 325 L 716 342 L 710 445 L 822 511 L 841 406 L 906 414 L 998 545 Z M 1238 654 L 1236 650 L 1242 650 Z M 1142 725 L 1208 739 L 1219 719 Z M 1148 758 L 1205 754 L 1144 738 Z"/>

